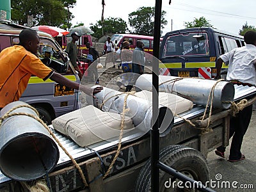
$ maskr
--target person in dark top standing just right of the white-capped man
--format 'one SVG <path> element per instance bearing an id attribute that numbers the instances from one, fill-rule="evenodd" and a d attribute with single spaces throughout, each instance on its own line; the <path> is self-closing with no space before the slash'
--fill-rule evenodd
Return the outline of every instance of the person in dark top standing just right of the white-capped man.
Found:
<path id="1" fill-rule="evenodd" d="M 92 70 L 92 77 L 94 74 L 95 82 L 96 82 L 95 84 L 99 84 L 99 74 L 98 74 L 98 70 L 97 70 L 97 62 L 93 63 L 96 60 L 98 60 L 98 63 L 100 63 L 99 52 L 96 51 L 96 49 L 94 47 L 91 47 L 90 42 L 87 42 L 85 45 L 86 45 L 87 49 L 89 49 L 89 54 L 92 55 L 92 61 L 91 61 L 92 65 L 89 65 L 90 70 Z"/>

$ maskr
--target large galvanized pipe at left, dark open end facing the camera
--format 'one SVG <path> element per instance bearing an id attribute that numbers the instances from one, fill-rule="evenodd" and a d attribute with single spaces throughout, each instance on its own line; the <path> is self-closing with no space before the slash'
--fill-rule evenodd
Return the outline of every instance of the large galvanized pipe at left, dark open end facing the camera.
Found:
<path id="1" fill-rule="evenodd" d="M 20 105 L 28 104 L 12 102 L 1 110 L 1 116 Z M 26 107 L 12 113 L 38 116 L 33 109 Z M 59 156 L 58 146 L 35 118 L 15 115 L 3 120 L 0 127 L 0 169 L 7 177 L 25 181 L 43 177 L 56 166 Z"/>

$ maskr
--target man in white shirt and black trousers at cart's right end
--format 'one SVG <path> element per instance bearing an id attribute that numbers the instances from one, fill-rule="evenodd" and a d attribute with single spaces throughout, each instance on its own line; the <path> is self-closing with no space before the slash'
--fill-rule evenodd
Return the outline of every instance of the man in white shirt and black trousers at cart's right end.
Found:
<path id="1" fill-rule="evenodd" d="M 216 61 L 217 74 L 215 79 L 220 79 L 222 63 L 228 64 L 227 80 L 243 86 L 256 86 L 256 32 L 247 31 L 244 34 L 244 47 L 238 47 L 227 52 Z M 250 99 L 249 97 L 246 99 Z M 241 153 L 243 137 L 250 124 L 253 106 L 247 106 L 230 118 L 229 138 L 232 138 L 228 161 L 237 162 L 245 159 Z M 218 147 L 216 155 L 225 157 L 225 147 Z"/>

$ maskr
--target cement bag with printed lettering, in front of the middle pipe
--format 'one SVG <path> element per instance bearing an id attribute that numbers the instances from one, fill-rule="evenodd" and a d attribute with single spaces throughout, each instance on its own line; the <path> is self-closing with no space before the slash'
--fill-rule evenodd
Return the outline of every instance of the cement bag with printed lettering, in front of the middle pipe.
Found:
<path id="1" fill-rule="evenodd" d="M 93 143 L 118 137 L 121 128 L 121 116 L 101 111 L 94 106 L 72 111 L 52 121 L 57 131 L 70 136 L 77 145 L 86 147 Z M 124 134 L 134 129 L 131 118 L 125 116 Z"/>

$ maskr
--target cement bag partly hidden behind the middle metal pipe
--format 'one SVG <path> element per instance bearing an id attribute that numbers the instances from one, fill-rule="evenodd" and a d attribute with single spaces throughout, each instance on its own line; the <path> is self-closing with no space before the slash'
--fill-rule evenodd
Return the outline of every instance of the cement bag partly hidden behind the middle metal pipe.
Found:
<path id="1" fill-rule="evenodd" d="M 152 92 L 143 90 L 135 95 L 152 102 Z M 172 93 L 159 92 L 159 104 L 171 109 L 173 113 L 180 114 L 193 108 L 193 102 Z"/>

